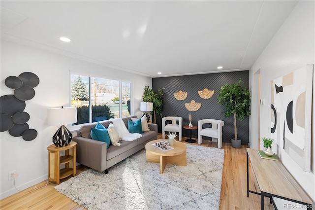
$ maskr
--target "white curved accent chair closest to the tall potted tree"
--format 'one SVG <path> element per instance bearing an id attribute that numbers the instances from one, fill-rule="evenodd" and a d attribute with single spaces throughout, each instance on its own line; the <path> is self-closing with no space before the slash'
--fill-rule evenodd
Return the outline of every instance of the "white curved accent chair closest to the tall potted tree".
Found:
<path id="1" fill-rule="evenodd" d="M 203 124 L 210 123 L 211 128 L 202 128 Z M 218 142 L 218 148 L 222 147 L 222 127 L 224 121 L 214 119 L 203 119 L 198 121 L 198 143 L 202 143 L 202 136 L 211 137 L 212 141 Z"/>

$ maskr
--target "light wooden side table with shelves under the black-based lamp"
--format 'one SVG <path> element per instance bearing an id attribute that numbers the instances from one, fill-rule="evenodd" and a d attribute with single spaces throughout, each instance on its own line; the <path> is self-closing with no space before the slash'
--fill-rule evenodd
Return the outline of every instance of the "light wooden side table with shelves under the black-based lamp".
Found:
<path id="1" fill-rule="evenodd" d="M 61 178 L 76 173 L 76 146 L 77 142 L 71 141 L 67 146 L 57 147 L 52 144 L 48 150 L 48 180 L 60 183 Z M 64 156 L 60 156 L 60 151 L 64 151 Z M 64 164 L 64 169 L 60 170 L 60 165 Z"/>

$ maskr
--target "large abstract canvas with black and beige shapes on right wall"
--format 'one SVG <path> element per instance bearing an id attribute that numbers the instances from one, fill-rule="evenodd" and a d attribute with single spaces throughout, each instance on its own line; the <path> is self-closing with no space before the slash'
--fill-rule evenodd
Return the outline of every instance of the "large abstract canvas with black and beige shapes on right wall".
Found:
<path id="1" fill-rule="evenodd" d="M 313 68 L 271 81 L 271 138 L 304 171 L 311 171 Z"/>

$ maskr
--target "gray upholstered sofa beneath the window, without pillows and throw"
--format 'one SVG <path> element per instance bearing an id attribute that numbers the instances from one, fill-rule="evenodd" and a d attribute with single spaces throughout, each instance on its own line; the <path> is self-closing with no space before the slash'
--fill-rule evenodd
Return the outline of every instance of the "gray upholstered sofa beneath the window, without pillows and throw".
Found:
<path id="1" fill-rule="evenodd" d="M 131 117 L 137 118 L 137 116 L 122 118 L 127 128 L 128 119 Z M 101 124 L 107 128 L 110 123 L 110 120 L 106 120 Z M 96 124 L 82 126 L 77 136 L 72 139 L 77 142 L 76 162 L 100 172 L 105 170 L 106 174 L 108 168 L 143 149 L 147 142 L 158 139 L 158 125 L 148 123 L 150 131 L 144 132 L 141 138 L 133 141 L 120 140 L 120 146 L 110 144 L 106 148 L 106 142 L 91 138 L 91 130 Z"/>

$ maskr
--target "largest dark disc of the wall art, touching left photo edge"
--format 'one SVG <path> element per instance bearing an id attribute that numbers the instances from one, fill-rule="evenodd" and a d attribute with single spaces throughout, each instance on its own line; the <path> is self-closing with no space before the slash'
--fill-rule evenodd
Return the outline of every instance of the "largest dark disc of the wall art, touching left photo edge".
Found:
<path id="1" fill-rule="evenodd" d="M 1 114 L 13 116 L 16 112 L 25 109 L 25 101 L 18 100 L 14 95 L 4 95 L 0 97 Z"/>

